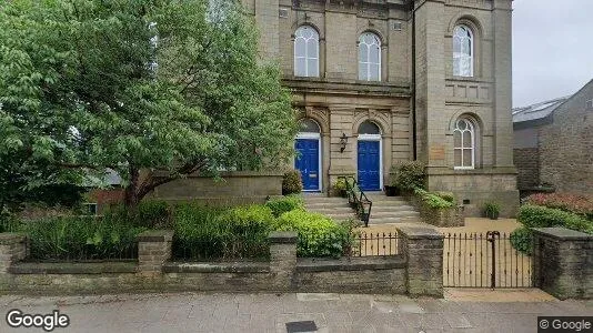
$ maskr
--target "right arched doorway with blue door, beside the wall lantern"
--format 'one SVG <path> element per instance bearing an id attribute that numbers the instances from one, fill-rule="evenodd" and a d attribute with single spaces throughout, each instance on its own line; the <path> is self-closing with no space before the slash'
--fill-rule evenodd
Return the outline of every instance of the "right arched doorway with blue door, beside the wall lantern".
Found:
<path id="1" fill-rule="evenodd" d="M 363 191 L 381 191 L 383 188 L 381 151 L 379 127 L 371 121 L 361 123 L 358 140 L 358 175 L 359 186 Z"/>

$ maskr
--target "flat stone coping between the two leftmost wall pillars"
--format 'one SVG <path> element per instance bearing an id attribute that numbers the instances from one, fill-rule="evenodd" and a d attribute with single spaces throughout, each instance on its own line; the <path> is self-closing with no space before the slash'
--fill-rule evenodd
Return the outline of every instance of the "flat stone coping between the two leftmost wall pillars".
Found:
<path id="1" fill-rule="evenodd" d="M 137 262 L 20 262 L 8 268 L 12 274 L 119 274 L 135 273 Z"/>

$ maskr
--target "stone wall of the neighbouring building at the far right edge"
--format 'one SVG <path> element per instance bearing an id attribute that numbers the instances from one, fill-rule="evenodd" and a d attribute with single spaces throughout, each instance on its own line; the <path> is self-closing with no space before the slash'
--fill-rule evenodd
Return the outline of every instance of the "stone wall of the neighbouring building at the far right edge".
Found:
<path id="1" fill-rule="evenodd" d="M 553 113 L 540 129 L 540 178 L 557 192 L 593 194 L 593 81 Z"/>

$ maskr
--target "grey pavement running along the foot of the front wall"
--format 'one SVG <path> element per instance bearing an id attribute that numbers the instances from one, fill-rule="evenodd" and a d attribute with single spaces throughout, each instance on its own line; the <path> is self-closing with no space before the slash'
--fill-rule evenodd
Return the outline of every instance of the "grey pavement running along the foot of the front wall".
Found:
<path id="1" fill-rule="evenodd" d="M 505 291 L 495 291 L 494 293 Z M 529 294 L 537 290 L 512 291 Z M 288 332 L 313 322 L 312 332 L 536 332 L 537 315 L 593 315 L 593 301 L 507 297 L 489 290 L 448 290 L 448 299 L 349 294 L 120 294 L 0 296 L 2 316 L 59 310 L 70 325 L 53 332 Z M 497 300 L 490 302 L 489 300 Z M 313 324 L 309 323 L 309 324 Z M 302 323 L 301 323 L 302 324 Z M 294 324 L 290 324 L 294 325 Z M 293 326 L 291 326 L 293 327 Z M 303 326 L 301 326 L 304 329 Z M 311 332 L 310 331 L 310 332 Z M 10 329 L 0 332 L 43 332 Z M 295 331 L 292 331 L 295 332 Z M 298 331 L 296 331 L 298 332 Z M 303 332 L 303 331 L 300 331 Z"/>

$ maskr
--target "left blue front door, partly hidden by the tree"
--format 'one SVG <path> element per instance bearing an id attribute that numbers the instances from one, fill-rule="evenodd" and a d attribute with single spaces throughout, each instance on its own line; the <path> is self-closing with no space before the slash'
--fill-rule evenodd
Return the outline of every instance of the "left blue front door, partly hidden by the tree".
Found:
<path id="1" fill-rule="evenodd" d="M 301 171 L 303 190 L 319 191 L 319 140 L 296 139 L 294 169 Z"/>

